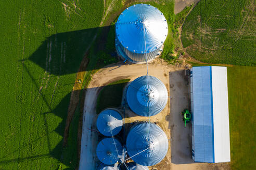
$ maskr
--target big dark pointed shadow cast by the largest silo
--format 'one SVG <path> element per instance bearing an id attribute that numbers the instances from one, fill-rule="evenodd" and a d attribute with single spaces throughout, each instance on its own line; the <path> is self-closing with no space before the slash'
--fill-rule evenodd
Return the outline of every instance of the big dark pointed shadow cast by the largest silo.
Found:
<path id="1" fill-rule="evenodd" d="M 114 25 L 58 33 L 47 37 L 29 60 L 54 75 L 99 69 L 117 61 L 114 40 Z M 94 50 L 90 50 L 87 62 L 92 61 L 94 66 L 79 70 L 81 61 L 91 46 L 94 46 Z"/>

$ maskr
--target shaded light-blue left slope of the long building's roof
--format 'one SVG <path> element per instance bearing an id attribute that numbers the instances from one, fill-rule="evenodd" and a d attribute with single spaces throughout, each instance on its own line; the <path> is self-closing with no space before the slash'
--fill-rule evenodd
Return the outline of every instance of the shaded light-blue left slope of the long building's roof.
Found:
<path id="1" fill-rule="evenodd" d="M 193 67 L 194 157 L 197 162 L 214 162 L 211 66 Z M 196 113 L 196 114 L 194 114 Z"/>

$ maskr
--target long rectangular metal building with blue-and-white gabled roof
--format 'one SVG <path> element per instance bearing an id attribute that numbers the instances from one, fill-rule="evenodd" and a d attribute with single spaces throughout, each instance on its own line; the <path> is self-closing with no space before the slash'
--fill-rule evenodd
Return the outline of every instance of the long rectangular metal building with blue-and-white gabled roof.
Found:
<path id="1" fill-rule="evenodd" d="M 196 162 L 229 162 L 226 67 L 190 70 L 192 154 Z"/>

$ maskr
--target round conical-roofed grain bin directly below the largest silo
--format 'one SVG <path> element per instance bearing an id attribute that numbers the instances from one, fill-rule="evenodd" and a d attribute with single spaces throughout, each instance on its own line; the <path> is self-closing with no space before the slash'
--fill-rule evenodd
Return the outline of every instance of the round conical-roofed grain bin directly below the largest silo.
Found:
<path id="1" fill-rule="evenodd" d="M 153 116 L 164 109 L 168 101 L 168 92 L 158 78 L 141 76 L 129 84 L 126 100 L 137 115 Z"/>

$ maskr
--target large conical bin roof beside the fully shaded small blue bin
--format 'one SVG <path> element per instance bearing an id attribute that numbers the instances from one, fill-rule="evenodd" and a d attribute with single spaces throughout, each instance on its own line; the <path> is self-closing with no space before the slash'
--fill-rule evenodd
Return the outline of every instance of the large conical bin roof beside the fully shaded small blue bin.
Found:
<path id="1" fill-rule="evenodd" d="M 137 164 L 156 165 L 167 154 L 168 139 L 158 125 L 149 122 L 140 123 L 132 127 L 127 135 L 126 148 L 129 156 Z"/>

